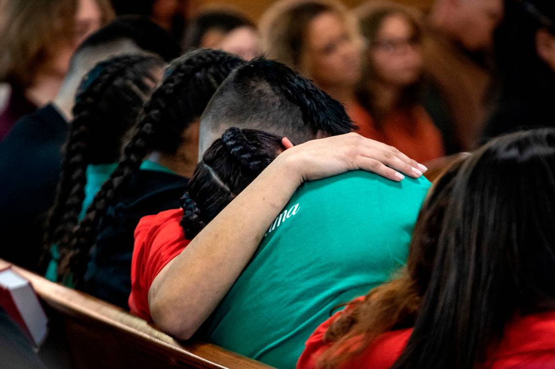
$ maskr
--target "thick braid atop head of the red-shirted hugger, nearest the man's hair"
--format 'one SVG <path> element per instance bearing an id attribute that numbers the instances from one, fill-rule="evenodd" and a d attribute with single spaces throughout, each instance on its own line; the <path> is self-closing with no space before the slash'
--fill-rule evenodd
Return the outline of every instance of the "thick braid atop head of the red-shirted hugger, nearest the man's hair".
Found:
<path id="1" fill-rule="evenodd" d="M 243 132 L 231 127 L 221 136 L 221 140 L 228 148 L 231 155 L 245 168 L 252 172 L 260 173 L 274 159 L 266 153 L 258 150 L 243 134 Z"/>

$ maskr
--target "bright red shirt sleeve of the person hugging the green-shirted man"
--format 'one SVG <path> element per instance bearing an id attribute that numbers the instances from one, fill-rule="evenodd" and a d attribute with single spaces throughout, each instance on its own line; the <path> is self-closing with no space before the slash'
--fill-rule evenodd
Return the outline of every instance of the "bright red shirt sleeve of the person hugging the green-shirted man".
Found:
<path id="1" fill-rule="evenodd" d="M 166 210 L 143 217 L 135 228 L 129 308 L 132 314 L 145 320 L 152 321 L 148 291 L 154 278 L 190 242 L 179 224 L 181 217 L 181 209 Z"/>

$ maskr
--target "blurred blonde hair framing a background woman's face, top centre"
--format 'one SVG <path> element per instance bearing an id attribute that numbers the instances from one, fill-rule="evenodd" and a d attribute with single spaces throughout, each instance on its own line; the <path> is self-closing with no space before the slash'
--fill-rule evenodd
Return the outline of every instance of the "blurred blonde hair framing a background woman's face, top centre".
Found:
<path id="1" fill-rule="evenodd" d="M 265 56 L 300 71 L 310 21 L 321 13 L 332 12 L 345 20 L 352 39 L 362 47 L 362 36 L 354 14 L 333 0 L 282 0 L 266 11 L 259 23 Z"/>

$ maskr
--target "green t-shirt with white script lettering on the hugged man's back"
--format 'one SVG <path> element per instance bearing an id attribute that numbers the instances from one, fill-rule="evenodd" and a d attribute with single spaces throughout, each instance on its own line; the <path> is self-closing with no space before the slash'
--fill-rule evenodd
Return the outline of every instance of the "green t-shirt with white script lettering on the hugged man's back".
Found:
<path id="1" fill-rule="evenodd" d="M 295 367 L 335 307 L 405 264 L 429 187 L 423 177 L 392 182 L 364 171 L 302 185 L 206 322 L 209 341 Z"/>

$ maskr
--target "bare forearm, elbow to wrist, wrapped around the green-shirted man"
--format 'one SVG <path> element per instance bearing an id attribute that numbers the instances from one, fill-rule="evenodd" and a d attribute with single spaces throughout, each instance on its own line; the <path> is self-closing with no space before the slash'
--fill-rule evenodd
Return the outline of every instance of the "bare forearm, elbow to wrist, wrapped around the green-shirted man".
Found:
<path id="1" fill-rule="evenodd" d="M 194 334 L 300 183 L 287 158 L 278 157 L 241 192 L 155 278 L 149 292 L 154 322 L 180 339 Z"/>

